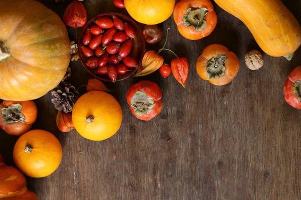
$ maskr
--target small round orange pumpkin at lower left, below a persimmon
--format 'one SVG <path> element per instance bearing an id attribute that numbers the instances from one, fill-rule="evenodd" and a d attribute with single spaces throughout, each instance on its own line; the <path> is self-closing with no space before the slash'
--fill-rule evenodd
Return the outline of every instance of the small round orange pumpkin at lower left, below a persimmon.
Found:
<path id="1" fill-rule="evenodd" d="M 62 154 L 60 141 L 45 130 L 31 130 L 23 134 L 13 151 L 15 164 L 31 177 L 53 173 L 61 163 Z"/>

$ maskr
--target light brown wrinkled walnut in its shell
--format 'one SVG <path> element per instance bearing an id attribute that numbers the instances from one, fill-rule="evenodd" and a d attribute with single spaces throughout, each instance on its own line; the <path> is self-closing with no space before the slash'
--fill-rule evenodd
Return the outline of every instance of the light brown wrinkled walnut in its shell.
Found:
<path id="1" fill-rule="evenodd" d="M 251 50 L 245 54 L 245 63 L 249 69 L 256 70 L 263 65 L 263 56 L 259 50 Z"/>

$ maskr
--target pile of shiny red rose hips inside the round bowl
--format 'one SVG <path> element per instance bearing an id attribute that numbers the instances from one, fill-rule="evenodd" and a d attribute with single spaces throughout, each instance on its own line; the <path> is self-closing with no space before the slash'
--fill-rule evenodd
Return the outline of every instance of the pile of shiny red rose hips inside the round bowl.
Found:
<path id="1" fill-rule="evenodd" d="M 107 74 L 112 81 L 117 79 L 117 74 L 126 73 L 128 67 L 137 68 L 136 59 L 129 56 L 132 38 L 136 37 L 134 28 L 115 15 L 112 19 L 99 17 L 94 22 L 95 25 L 86 29 L 80 46 L 84 55 L 89 57 L 86 65 L 98 67 L 96 72 Z"/>

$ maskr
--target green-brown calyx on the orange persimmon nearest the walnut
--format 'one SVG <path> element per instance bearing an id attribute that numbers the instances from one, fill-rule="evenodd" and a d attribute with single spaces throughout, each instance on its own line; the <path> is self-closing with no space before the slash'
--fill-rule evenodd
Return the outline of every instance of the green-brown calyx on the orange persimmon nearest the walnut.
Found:
<path id="1" fill-rule="evenodd" d="M 217 57 L 212 57 L 207 63 L 207 75 L 208 78 L 215 78 L 215 76 L 221 77 L 224 75 L 226 67 L 224 63 L 227 57 L 225 54 L 218 54 Z"/>

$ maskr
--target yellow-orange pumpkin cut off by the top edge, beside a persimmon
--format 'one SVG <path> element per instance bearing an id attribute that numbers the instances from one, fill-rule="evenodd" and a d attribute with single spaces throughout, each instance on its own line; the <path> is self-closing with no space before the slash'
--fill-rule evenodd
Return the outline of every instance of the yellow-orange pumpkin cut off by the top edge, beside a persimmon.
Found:
<path id="1" fill-rule="evenodd" d="M 148 25 L 158 24 L 168 19 L 176 0 L 124 0 L 124 5 L 131 17 Z"/>

